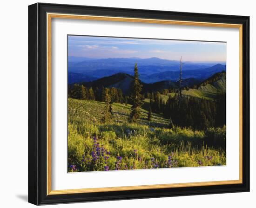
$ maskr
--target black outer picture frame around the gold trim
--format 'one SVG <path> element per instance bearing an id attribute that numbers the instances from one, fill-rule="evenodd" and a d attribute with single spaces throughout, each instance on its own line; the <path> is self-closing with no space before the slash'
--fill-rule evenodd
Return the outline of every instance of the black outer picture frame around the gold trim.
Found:
<path id="1" fill-rule="evenodd" d="M 47 13 L 243 25 L 243 183 L 47 195 Z M 249 191 L 249 17 L 36 3 L 28 7 L 28 202 L 35 205 Z"/>

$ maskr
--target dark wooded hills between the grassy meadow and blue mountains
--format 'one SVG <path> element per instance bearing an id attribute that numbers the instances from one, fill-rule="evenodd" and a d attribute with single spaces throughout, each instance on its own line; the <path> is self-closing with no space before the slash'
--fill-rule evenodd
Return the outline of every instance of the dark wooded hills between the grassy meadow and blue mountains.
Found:
<path id="1" fill-rule="evenodd" d="M 104 102 L 104 91 L 109 88 L 112 103 L 131 104 L 129 95 L 134 77 L 118 73 L 92 82 L 70 86 L 69 97 Z M 178 83 L 161 81 L 146 84 L 140 81 L 142 108 L 172 119 L 175 125 L 203 130 L 209 126 L 221 127 L 226 123 L 226 72 L 218 72 L 195 84 L 195 80 L 183 80 L 182 100 L 178 96 Z M 191 85 L 190 85 L 190 84 Z M 183 83 L 182 83 L 183 84 Z M 200 99 L 198 99 L 200 98 Z M 149 103 L 149 104 L 147 104 Z"/>

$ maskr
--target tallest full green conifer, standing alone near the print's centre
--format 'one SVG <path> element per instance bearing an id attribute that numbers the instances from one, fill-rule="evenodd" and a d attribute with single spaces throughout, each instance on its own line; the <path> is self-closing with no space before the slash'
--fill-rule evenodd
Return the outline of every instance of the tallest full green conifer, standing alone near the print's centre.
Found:
<path id="1" fill-rule="evenodd" d="M 130 122 L 136 122 L 137 119 L 141 115 L 141 90 L 142 90 L 142 85 L 140 84 L 139 80 L 139 73 L 138 73 L 138 66 L 135 64 L 134 67 L 134 83 L 132 86 L 132 93 L 131 93 L 131 101 L 132 101 L 132 108 L 131 108 L 131 113 L 129 117 Z"/>

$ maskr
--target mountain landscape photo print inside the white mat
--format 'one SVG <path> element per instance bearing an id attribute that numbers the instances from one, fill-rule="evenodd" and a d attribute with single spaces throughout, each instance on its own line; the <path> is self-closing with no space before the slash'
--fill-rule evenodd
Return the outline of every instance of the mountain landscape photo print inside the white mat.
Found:
<path id="1" fill-rule="evenodd" d="M 68 35 L 68 172 L 226 165 L 226 47 Z"/>

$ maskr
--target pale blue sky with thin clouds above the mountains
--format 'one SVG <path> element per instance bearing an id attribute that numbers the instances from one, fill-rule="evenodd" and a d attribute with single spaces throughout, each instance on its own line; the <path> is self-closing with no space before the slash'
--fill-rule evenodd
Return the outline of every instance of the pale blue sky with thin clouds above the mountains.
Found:
<path id="1" fill-rule="evenodd" d="M 226 61 L 226 43 L 187 40 L 68 36 L 68 56 Z"/>

